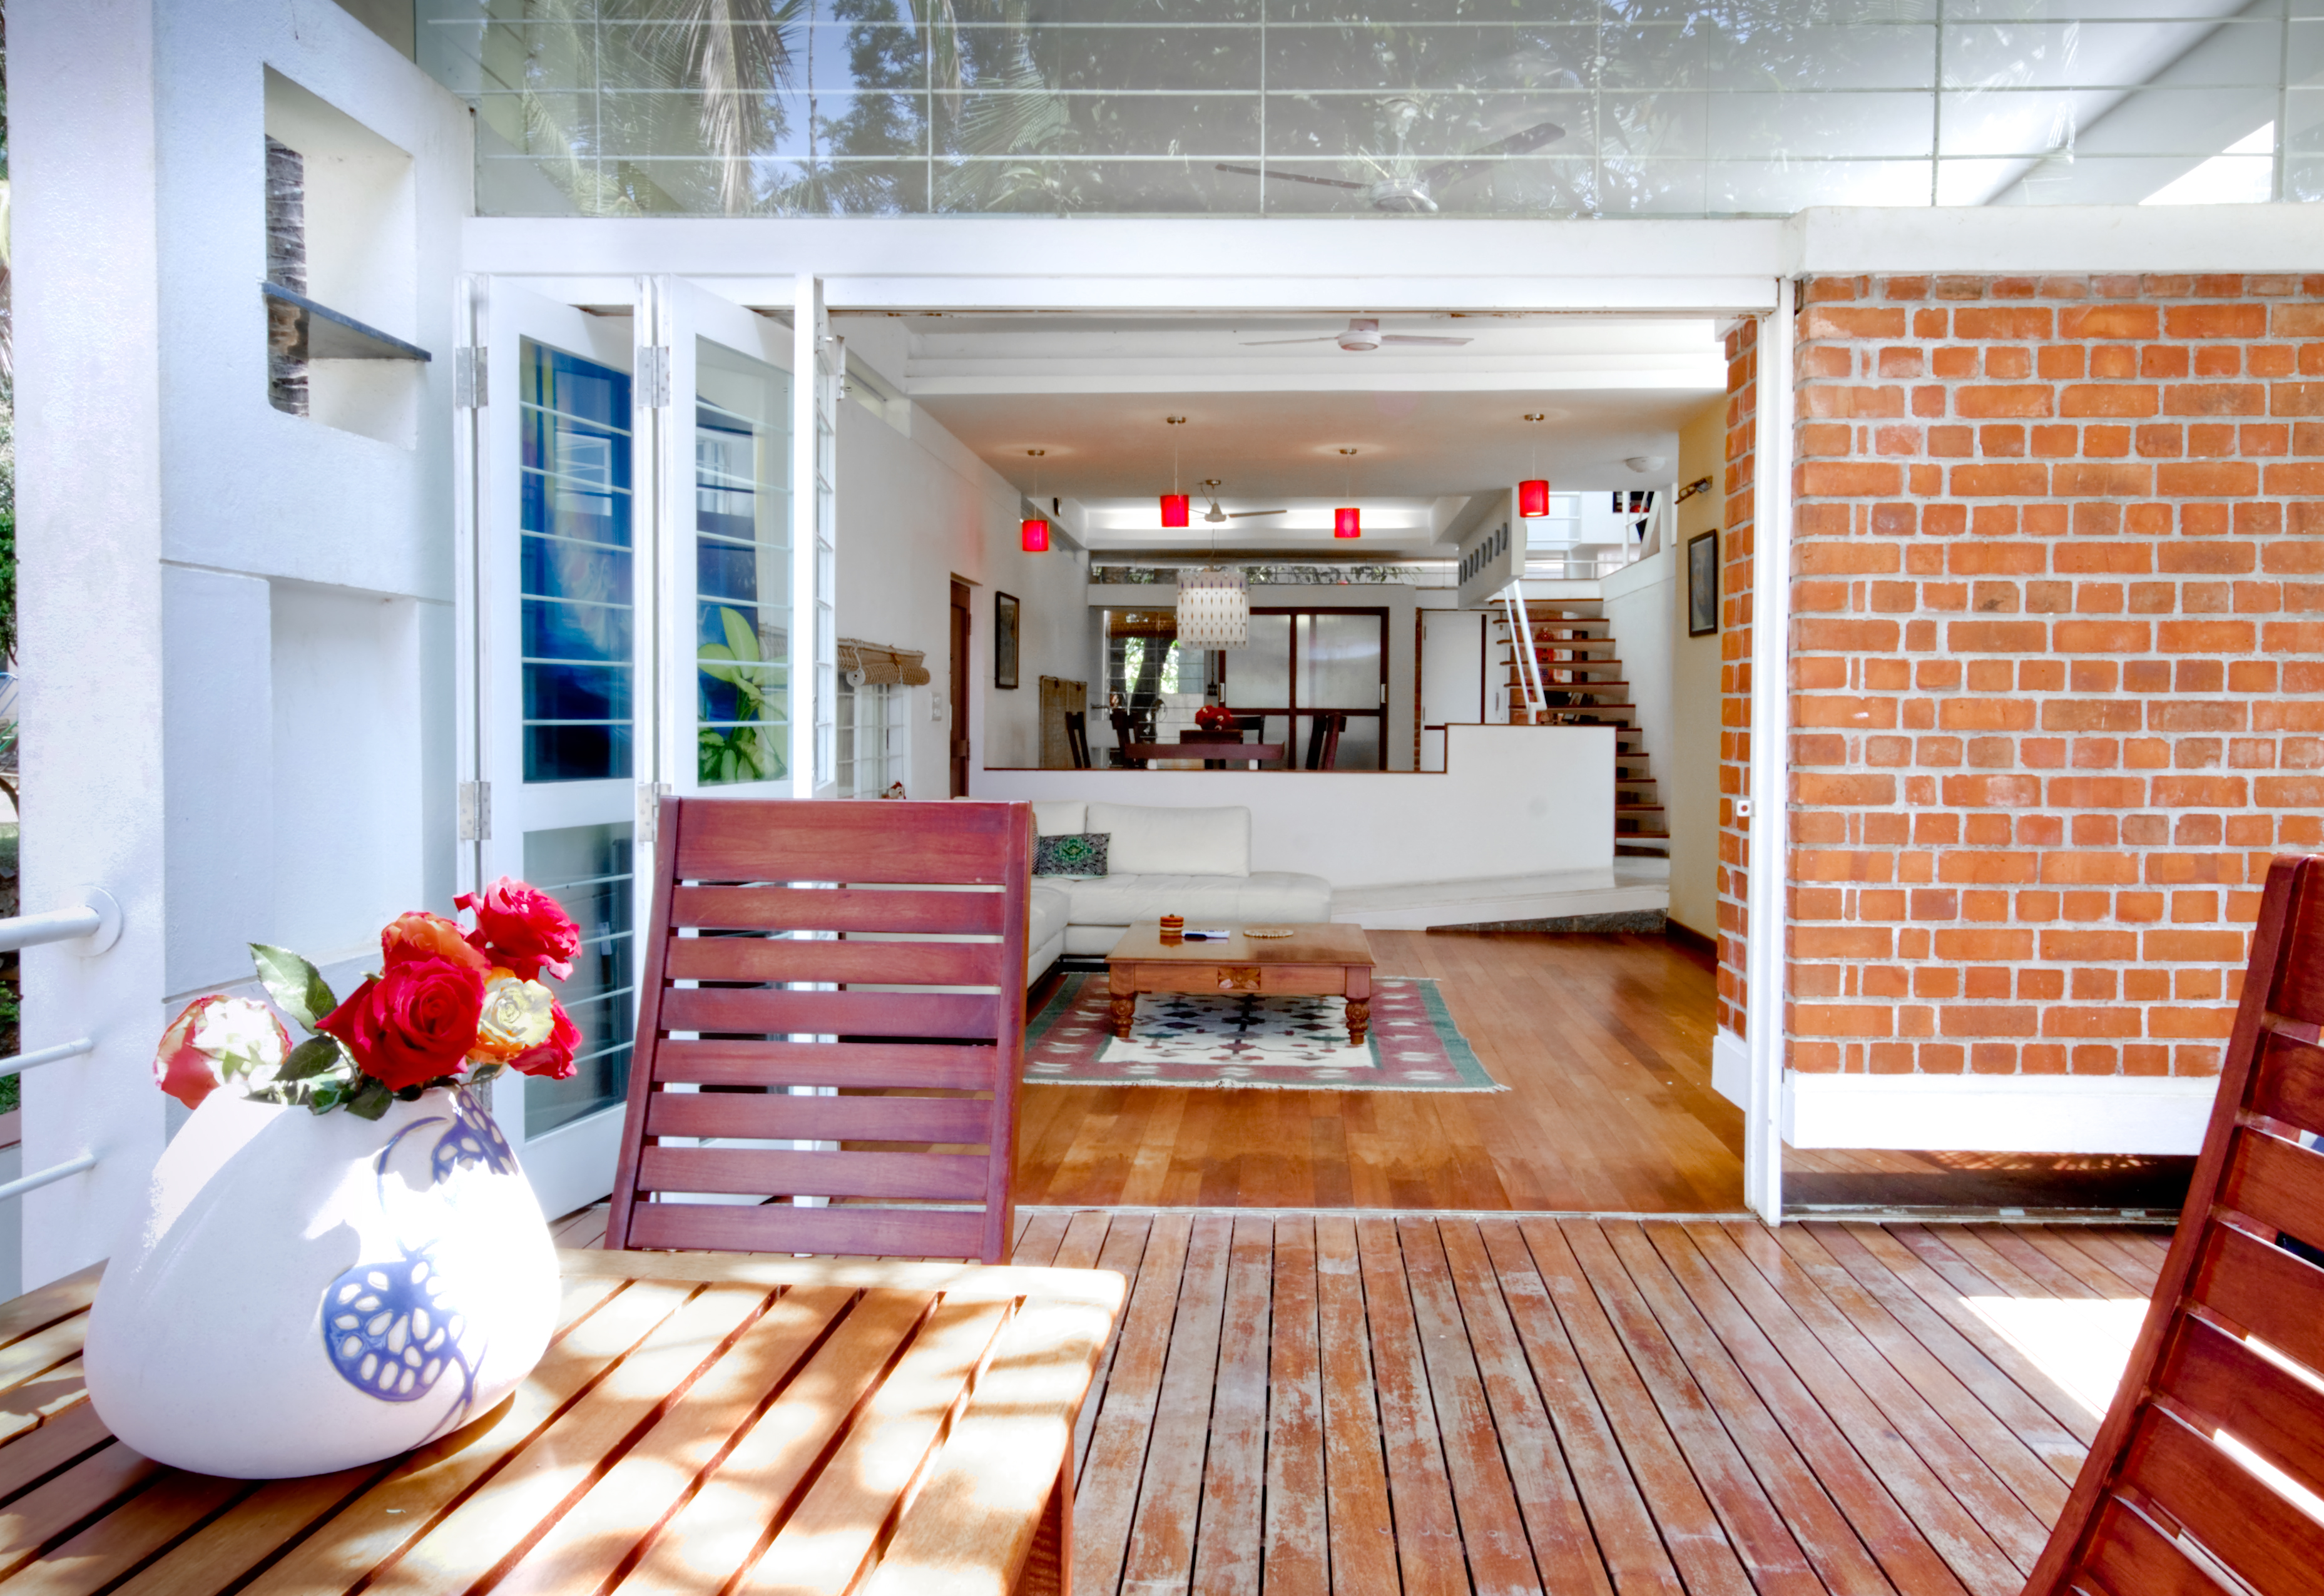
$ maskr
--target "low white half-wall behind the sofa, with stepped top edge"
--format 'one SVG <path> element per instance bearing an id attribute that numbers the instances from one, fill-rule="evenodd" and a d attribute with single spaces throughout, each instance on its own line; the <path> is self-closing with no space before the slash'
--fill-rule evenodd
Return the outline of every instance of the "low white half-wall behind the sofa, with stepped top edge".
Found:
<path id="1" fill-rule="evenodd" d="M 981 771 L 976 797 L 1250 808 L 1250 869 L 1334 887 L 1613 864 L 1613 727 L 1450 729 L 1415 771 Z"/>

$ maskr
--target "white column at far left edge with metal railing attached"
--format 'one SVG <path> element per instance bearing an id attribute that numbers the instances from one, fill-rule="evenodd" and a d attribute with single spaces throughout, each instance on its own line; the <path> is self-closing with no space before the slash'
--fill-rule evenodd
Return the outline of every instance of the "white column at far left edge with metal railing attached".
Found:
<path id="1" fill-rule="evenodd" d="M 23 1078 L 23 1285 L 112 1248 L 163 1148 L 160 249 L 153 0 L 9 7 L 23 906 L 81 883 L 121 941 L 23 955 L 23 1045 L 95 1052 Z M 253 256 L 256 260 L 256 256 Z M 267 725 L 249 727 L 265 778 Z"/>

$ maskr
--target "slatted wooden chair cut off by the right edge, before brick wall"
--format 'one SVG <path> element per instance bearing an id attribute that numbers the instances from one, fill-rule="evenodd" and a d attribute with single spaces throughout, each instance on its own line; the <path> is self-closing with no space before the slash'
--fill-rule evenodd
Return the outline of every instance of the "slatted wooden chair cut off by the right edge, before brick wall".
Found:
<path id="1" fill-rule="evenodd" d="M 2154 1306 L 2027 1596 L 2324 1591 L 2294 1505 L 2324 1496 L 2324 1268 L 2284 1245 L 2324 1245 L 2319 1022 L 2324 857 L 2282 857 Z"/>

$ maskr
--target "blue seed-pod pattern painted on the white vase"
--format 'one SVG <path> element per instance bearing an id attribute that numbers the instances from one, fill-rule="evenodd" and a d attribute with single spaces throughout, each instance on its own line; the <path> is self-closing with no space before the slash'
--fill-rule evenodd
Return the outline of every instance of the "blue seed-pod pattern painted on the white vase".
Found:
<path id="1" fill-rule="evenodd" d="M 467 1087 L 451 1090 L 451 1115 L 414 1120 L 388 1138 L 372 1159 L 372 1185 L 379 1210 L 388 1213 L 388 1159 L 404 1136 L 430 1124 L 451 1124 L 437 1136 L 428 1157 L 428 1187 L 437 1187 L 460 1169 L 483 1166 L 495 1176 L 516 1173 L 516 1152 Z M 323 1350 L 339 1378 L 365 1396 L 407 1403 L 428 1396 L 446 1368 L 460 1371 L 460 1401 L 430 1431 L 430 1438 L 458 1429 L 476 1396 L 476 1366 L 460 1345 L 467 1317 L 446 1301 L 444 1278 L 435 1266 L 435 1238 L 418 1245 L 395 1238 L 400 1257 L 356 1264 L 323 1289 Z"/>

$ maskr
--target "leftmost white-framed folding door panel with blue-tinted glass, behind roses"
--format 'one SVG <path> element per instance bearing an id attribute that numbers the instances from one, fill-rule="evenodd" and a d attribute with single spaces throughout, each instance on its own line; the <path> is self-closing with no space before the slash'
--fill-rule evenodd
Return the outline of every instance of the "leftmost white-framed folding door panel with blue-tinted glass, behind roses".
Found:
<path id="1" fill-rule="evenodd" d="M 504 1076 L 493 1115 L 551 1215 L 604 1196 L 627 1090 L 637 785 L 653 778 L 655 555 L 632 318 L 500 279 L 469 286 L 479 404 L 460 525 L 467 732 L 479 783 L 462 887 L 518 876 L 581 927 L 558 997 L 581 1029 L 567 1080 Z"/>

